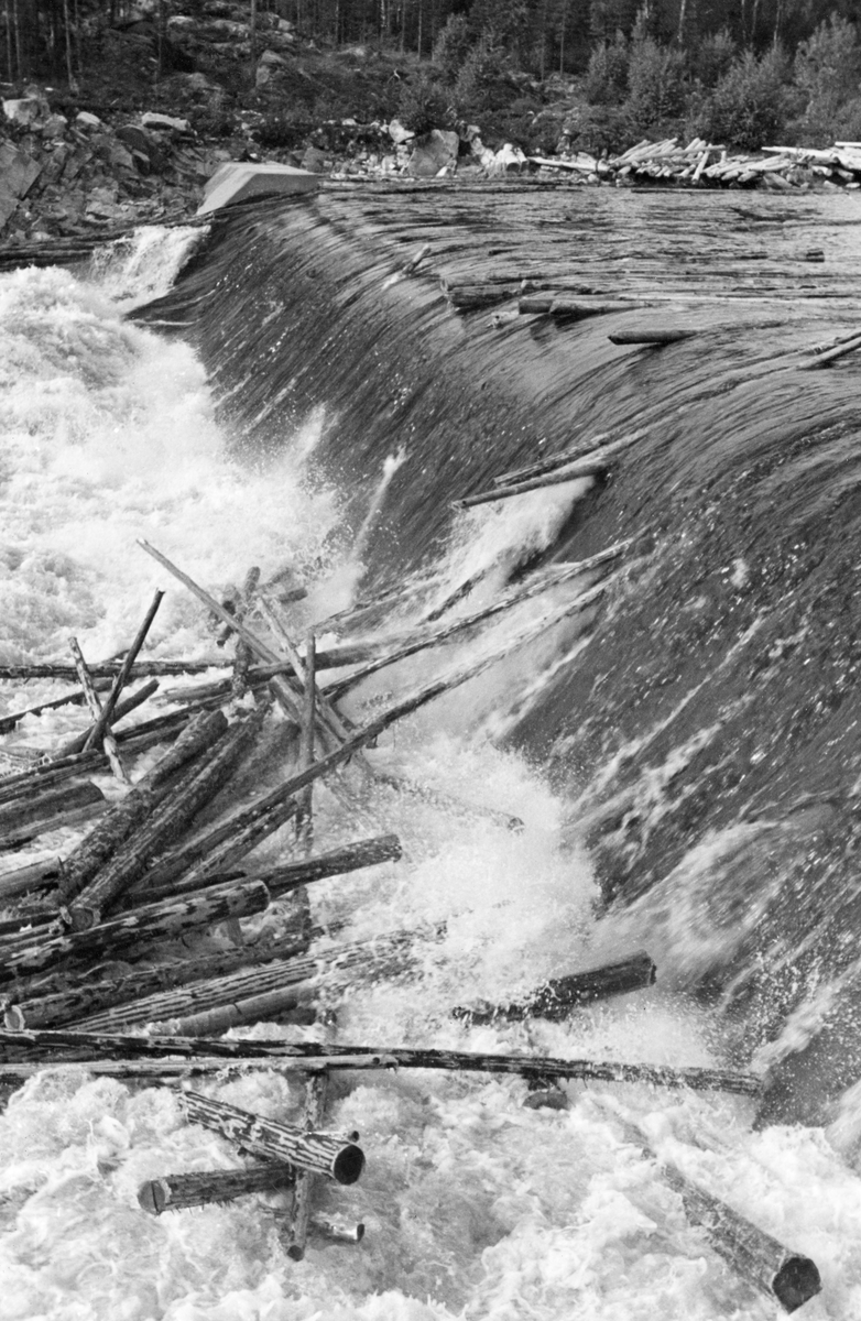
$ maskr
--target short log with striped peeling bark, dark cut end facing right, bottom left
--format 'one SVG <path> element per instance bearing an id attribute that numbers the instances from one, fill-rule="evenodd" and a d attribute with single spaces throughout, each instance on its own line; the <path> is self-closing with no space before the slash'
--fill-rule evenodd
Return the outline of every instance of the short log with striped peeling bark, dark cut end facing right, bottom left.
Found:
<path id="1" fill-rule="evenodd" d="M 195 1091 L 186 1091 L 182 1099 L 190 1123 L 221 1133 L 255 1156 L 285 1161 L 337 1184 L 355 1184 L 364 1169 L 362 1148 L 335 1133 L 308 1133 Z"/>

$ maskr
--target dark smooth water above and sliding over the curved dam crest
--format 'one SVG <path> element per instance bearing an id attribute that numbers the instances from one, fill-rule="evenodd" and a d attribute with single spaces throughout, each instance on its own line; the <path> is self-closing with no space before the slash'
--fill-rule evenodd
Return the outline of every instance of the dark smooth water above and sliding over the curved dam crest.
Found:
<path id="1" fill-rule="evenodd" d="M 403 452 L 366 530 L 363 594 L 432 572 L 475 517 L 458 497 L 630 440 L 551 543 L 506 565 L 522 577 L 633 539 L 576 655 L 563 629 L 528 691 L 499 697 L 500 741 L 565 791 L 607 919 L 722 1011 L 740 1059 L 786 1054 L 766 1112 L 808 1120 L 861 1077 L 861 363 L 806 370 L 857 324 L 860 226 L 831 196 L 331 192 L 219 217 L 136 313 L 191 338 L 256 461 L 324 410 L 316 461 L 354 493 L 354 527 Z M 446 297 L 524 277 L 642 305 L 574 321 Z M 695 334 L 607 338 L 650 324 Z"/>

